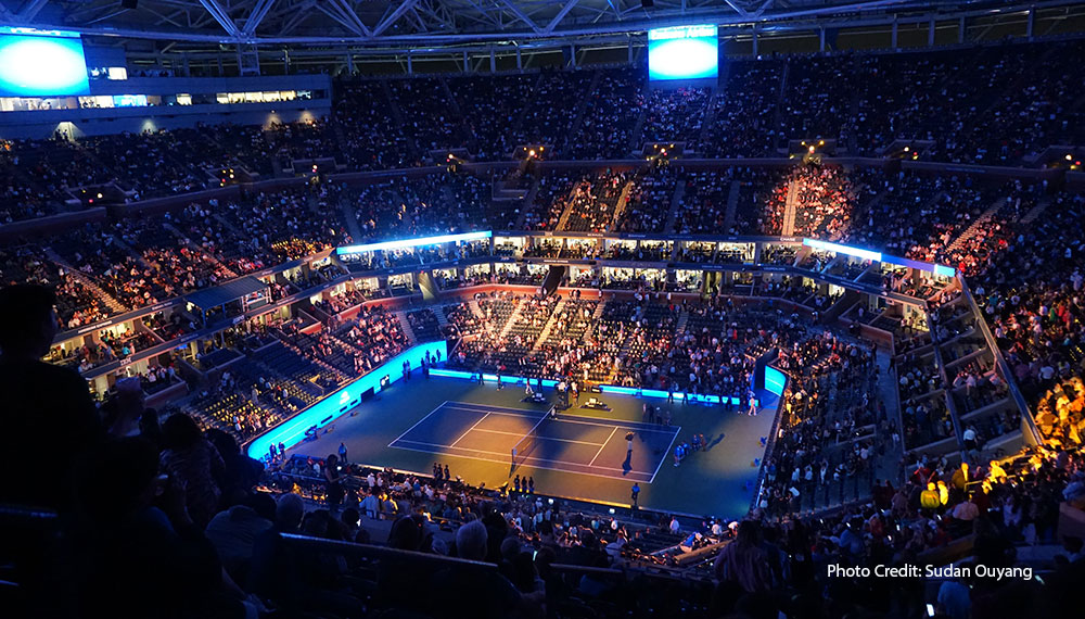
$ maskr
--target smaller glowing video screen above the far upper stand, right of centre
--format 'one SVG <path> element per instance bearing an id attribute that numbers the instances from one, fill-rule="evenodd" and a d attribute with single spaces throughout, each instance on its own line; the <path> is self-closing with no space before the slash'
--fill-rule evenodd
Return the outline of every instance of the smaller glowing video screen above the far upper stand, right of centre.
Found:
<path id="1" fill-rule="evenodd" d="M 648 30 L 648 78 L 716 77 L 719 72 L 718 47 L 716 26 Z"/>

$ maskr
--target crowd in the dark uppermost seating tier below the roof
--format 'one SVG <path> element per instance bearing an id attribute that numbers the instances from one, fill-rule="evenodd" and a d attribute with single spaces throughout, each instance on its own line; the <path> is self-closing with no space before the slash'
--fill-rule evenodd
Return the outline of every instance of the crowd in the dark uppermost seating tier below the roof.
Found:
<path id="1" fill-rule="evenodd" d="M 828 139 L 851 154 L 909 144 L 935 161 L 1032 165 L 1048 147 L 1085 138 L 1081 102 L 1060 99 L 1081 70 L 1055 61 L 1081 50 L 1056 41 L 743 59 L 715 93 L 649 88 L 640 66 L 344 80 L 327 118 L 0 142 L 0 218 L 101 203 L 84 200 L 87 188 L 91 200 L 110 185 L 140 200 L 217 187 L 222 169 L 263 177 L 272 160 L 282 169 L 317 159 L 391 169 L 461 148 L 502 160 L 519 144 L 550 146 L 563 159 L 626 159 L 638 138 L 686 142 L 707 156 L 775 156 L 789 141 Z"/>

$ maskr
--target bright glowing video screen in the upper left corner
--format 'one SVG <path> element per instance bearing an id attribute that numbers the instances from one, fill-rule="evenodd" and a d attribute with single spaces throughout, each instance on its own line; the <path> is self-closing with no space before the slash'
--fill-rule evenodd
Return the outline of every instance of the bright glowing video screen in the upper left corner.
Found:
<path id="1" fill-rule="evenodd" d="M 78 34 L 0 27 L 0 97 L 88 94 Z"/>

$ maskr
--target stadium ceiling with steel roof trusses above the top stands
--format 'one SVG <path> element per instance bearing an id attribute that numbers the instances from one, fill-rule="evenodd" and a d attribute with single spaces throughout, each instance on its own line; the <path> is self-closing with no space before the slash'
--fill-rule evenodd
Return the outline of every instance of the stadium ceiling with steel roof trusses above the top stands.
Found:
<path id="1" fill-rule="evenodd" d="M 1067 1 L 995 0 L 0 0 L 0 24 L 95 37 L 241 46 L 451 46 L 639 33 L 993 13 Z M 647 7 L 646 4 L 652 4 Z"/>

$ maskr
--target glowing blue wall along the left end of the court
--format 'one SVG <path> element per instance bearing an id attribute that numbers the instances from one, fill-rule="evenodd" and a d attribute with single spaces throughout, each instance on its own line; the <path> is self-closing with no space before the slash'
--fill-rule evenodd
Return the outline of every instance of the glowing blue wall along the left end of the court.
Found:
<path id="1" fill-rule="evenodd" d="M 286 449 L 296 445 L 305 439 L 305 431 L 309 428 L 314 426 L 327 426 L 350 408 L 360 404 L 361 394 L 367 390 L 372 389 L 373 393 L 380 393 L 381 379 L 385 376 L 388 377 L 390 383 L 403 378 L 405 361 L 410 362 L 411 368 L 422 367 L 422 359 L 425 358 L 426 352 L 431 356 L 436 356 L 439 352 L 441 358 L 445 359 L 448 357 L 448 343 L 442 340 L 439 342 L 419 344 L 392 357 L 382 366 L 355 379 L 320 402 L 253 439 L 247 449 L 250 457 L 260 459 L 267 456 L 268 447 L 272 444 L 278 445 L 282 443 Z M 435 374 L 436 371 L 438 370 L 433 370 L 430 374 Z"/>

